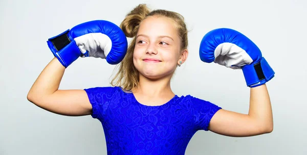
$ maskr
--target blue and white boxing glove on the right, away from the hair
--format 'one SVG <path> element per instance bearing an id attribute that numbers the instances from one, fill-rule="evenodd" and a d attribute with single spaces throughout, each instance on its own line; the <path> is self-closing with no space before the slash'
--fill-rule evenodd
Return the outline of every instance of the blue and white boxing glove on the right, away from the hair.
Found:
<path id="1" fill-rule="evenodd" d="M 245 35 L 232 29 L 208 32 L 201 41 L 200 58 L 203 62 L 242 69 L 246 84 L 251 88 L 267 83 L 275 74 L 260 49 Z"/>

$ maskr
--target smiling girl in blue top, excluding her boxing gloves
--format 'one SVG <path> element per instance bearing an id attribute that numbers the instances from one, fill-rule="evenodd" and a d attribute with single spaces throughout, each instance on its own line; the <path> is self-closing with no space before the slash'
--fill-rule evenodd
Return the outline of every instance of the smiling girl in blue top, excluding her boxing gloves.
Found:
<path id="1" fill-rule="evenodd" d="M 188 57 L 184 18 L 139 5 L 120 28 L 133 38 L 112 87 L 58 90 L 65 67 L 54 58 L 28 94 L 35 105 L 68 116 L 101 121 L 108 154 L 184 154 L 199 130 L 233 137 L 273 130 L 266 85 L 251 88 L 249 114 L 222 109 L 191 95 L 177 96 L 171 77 Z"/>

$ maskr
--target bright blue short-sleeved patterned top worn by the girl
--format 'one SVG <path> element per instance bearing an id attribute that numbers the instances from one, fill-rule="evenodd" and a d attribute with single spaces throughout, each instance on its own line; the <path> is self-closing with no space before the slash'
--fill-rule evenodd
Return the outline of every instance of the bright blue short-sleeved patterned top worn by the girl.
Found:
<path id="1" fill-rule="evenodd" d="M 92 117 L 103 127 L 107 154 L 184 154 L 192 136 L 208 131 L 221 109 L 191 95 L 175 95 L 161 106 L 140 104 L 120 87 L 84 89 L 93 107 Z"/>

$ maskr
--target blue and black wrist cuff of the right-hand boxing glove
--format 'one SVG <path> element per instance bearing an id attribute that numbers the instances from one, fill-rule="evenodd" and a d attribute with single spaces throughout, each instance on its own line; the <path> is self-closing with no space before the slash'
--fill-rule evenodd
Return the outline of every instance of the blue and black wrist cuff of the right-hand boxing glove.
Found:
<path id="1" fill-rule="evenodd" d="M 264 57 L 262 57 L 259 62 L 245 65 L 242 70 L 246 84 L 251 88 L 267 83 L 275 74 Z"/>

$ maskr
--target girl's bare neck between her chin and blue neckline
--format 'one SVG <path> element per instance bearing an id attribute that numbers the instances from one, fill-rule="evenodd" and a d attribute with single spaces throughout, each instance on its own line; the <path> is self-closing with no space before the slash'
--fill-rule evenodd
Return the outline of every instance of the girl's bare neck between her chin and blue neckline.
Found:
<path id="1" fill-rule="evenodd" d="M 170 78 L 171 77 L 164 77 L 159 80 L 151 80 L 140 75 L 139 85 L 132 91 L 133 93 L 142 94 L 148 97 L 174 95 L 170 88 Z"/>

